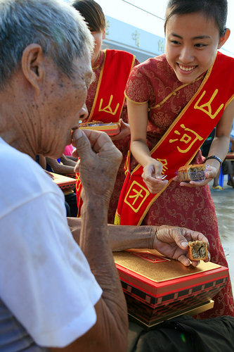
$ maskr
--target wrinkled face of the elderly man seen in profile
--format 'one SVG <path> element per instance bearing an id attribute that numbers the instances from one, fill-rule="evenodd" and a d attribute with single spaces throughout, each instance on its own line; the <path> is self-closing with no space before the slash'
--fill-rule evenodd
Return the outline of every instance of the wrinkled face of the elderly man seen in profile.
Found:
<path id="1" fill-rule="evenodd" d="M 41 148 L 45 155 L 58 158 L 65 145 L 71 143 L 72 130 L 79 127 L 79 120 L 86 118 L 87 89 L 93 78 L 91 56 L 88 51 L 74 60 L 72 80 L 58 72 L 53 64 L 44 92 L 45 135 Z"/>

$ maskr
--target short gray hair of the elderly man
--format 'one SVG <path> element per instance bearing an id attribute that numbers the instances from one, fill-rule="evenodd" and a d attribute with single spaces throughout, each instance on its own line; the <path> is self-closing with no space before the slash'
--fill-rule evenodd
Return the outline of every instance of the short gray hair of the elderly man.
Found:
<path id="1" fill-rule="evenodd" d="M 93 37 L 78 11 L 64 0 L 0 0 L 0 89 L 20 65 L 22 52 L 37 43 L 72 77 L 74 58 L 93 50 Z"/>

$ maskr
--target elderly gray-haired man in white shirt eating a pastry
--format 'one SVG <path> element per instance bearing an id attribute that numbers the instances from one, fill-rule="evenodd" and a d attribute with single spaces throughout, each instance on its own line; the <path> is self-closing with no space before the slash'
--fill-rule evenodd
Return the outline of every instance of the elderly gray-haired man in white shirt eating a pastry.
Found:
<path id="1" fill-rule="evenodd" d="M 110 244 L 148 246 L 189 265 L 187 239 L 205 238 L 110 226 L 109 244 L 122 156 L 105 133 L 78 128 L 93 77 L 91 34 L 64 1 L 1 0 L 0 20 L 0 351 L 126 351 Z M 81 160 L 82 224 L 67 224 L 62 192 L 34 162 L 37 154 L 58 158 L 71 142 Z"/>

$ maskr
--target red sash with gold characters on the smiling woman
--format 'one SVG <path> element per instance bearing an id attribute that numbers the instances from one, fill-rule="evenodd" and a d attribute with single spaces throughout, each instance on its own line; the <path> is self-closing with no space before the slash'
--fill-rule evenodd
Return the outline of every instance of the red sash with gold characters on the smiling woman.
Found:
<path id="1" fill-rule="evenodd" d="M 182 165 L 193 160 L 204 140 L 219 122 L 224 109 L 234 98 L 234 59 L 218 52 L 202 84 L 156 146 L 152 158 L 163 165 L 169 183 Z M 183 86 L 181 86 L 183 87 Z M 138 164 L 130 173 L 130 158 L 115 215 L 116 225 L 141 225 L 152 203 L 166 189 L 151 194 L 141 177 Z"/>

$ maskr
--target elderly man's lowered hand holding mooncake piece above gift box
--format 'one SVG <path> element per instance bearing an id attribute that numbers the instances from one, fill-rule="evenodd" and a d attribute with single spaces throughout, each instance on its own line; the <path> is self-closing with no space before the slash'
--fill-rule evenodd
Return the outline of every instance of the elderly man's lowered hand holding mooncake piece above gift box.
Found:
<path id="1" fill-rule="evenodd" d="M 164 256 L 180 261 L 183 265 L 190 265 L 188 255 L 188 241 L 206 241 L 209 248 L 209 242 L 204 234 L 185 227 L 162 225 L 158 227 L 155 239 L 153 242 L 153 249 L 157 249 Z M 210 254 L 208 253 L 208 259 Z M 196 266 L 199 261 L 193 261 L 192 265 Z"/>

